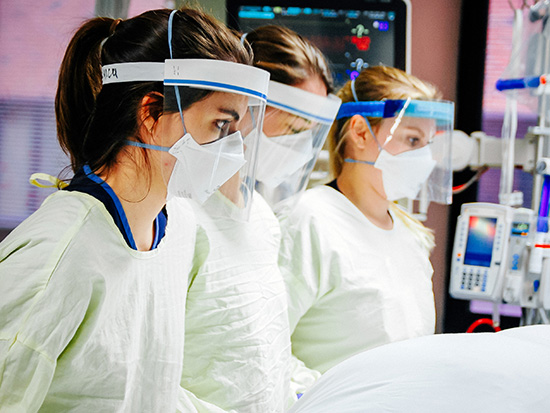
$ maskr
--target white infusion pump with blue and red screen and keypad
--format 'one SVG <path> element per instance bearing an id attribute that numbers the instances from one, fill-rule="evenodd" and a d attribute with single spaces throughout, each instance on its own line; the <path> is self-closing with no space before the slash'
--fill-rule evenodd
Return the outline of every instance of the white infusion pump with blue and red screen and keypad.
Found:
<path id="1" fill-rule="evenodd" d="M 516 296 L 521 287 L 517 284 L 528 273 L 533 226 L 530 209 L 480 202 L 463 204 L 453 247 L 451 296 L 519 303 Z"/>

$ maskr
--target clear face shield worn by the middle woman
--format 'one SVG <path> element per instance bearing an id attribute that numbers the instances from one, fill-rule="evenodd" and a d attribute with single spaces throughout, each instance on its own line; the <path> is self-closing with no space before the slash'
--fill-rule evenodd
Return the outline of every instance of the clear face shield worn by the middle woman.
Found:
<path id="1" fill-rule="evenodd" d="M 306 189 L 340 103 L 334 95 L 325 97 L 269 82 L 257 152 L 256 190 L 275 213 L 292 209 Z M 249 136 L 245 144 L 248 140 Z"/>

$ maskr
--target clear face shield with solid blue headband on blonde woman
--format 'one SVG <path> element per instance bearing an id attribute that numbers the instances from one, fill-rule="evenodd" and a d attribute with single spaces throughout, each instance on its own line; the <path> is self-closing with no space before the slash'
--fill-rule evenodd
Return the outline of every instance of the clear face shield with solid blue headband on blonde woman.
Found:
<path id="1" fill-rule="evenodd" d="M 375 161 L 346 159 L 382 171 L 388 200 L 452 202 L 451 137 L 454 103 L 386 100 L 343 104 L 338 118 L 361 115 L 375 137 Z M 371 125 L 372 123 L 372 125 Z"/>

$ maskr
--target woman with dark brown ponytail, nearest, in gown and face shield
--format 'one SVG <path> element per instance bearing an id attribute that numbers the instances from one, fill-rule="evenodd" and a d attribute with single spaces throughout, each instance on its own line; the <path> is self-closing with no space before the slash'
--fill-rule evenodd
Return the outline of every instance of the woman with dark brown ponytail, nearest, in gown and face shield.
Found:
<path id="1" fill-rule="evenodd" d="M 165 205 L 204 202 L 245 163 L 241 122 L 269 79 L 250 63 L 187 8 L 77 30 L 55 105 L 74 178 L 0 244 L 0 410 L 186 404 L 187 275 L 204 251 L 191 208 Z"/>

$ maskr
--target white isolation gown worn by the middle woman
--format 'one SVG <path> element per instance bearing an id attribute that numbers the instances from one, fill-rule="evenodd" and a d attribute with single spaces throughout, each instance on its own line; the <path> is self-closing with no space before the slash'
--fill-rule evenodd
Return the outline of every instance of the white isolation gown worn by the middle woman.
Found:
<path id="1" fill-rule="evenodd" d="M 194 204 L 210 253 L 187 293 L 182 387 L 226 411 L 282 412 L 291 353 L 279 224 L 257 193 L 248 222 L 209 215 L 219 202 L 229 201 L 217 192 Z"/>

